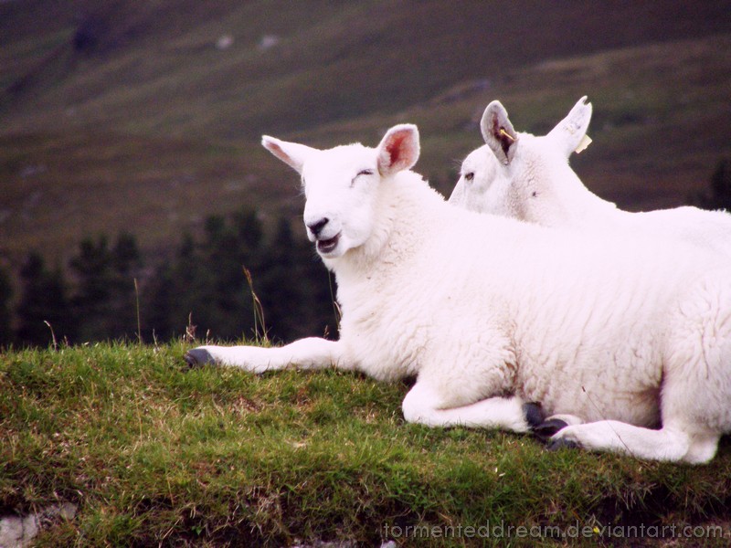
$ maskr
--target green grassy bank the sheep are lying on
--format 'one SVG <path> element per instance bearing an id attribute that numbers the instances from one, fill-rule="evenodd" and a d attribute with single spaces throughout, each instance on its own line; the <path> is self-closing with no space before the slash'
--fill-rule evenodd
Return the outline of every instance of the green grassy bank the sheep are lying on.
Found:
<path id="1" fill-rule="evenodd" d="M 593 528 L 686 524 L 721 526 L 726 540 L 698 541 L 721 546 L 731 533 L 727 440 L 695 468 L 547 452 L 527 436 L 405 424 L 406 384 L 336 371 L 186 370 L 184 351 L 176 342 L 4 353 L 0 514 L 78 504 L 40 546 L 387 537 L 462 546 L 475 542 L 468 527 L 476 535 L 488 526 L 493 537 L 480 543 L 553 545 L 551 535 L 577 525 L 588 538 L 558 542 L 637 545 Z M 521 538 L 519 526 L 558 529 Z"/>

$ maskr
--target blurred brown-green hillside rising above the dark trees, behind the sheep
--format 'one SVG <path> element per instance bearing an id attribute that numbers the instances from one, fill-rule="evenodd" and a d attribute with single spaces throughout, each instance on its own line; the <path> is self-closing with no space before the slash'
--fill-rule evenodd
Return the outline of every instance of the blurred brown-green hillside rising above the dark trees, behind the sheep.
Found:
<path id="1" fill-rule="evenodd" d="M 0 258 L 65 259 L 132 229 L 175 243 L 246 205 L 296 219 L 261 133 L 374 144 L 418 123 L 418 171 L 449 193 L 495 98 L 544 132 L 581 95 L 573 164 L 630 208 L 682 204 L 731 154 L 728 2 L 0 4 Z M 171 242 L 172 240 L 172 242 Z"/>

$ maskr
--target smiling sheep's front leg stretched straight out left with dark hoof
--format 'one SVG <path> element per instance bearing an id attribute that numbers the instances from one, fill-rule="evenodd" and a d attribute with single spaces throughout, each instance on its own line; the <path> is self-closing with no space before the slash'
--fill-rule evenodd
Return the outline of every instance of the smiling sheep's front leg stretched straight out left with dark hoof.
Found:
<path id="1" fill-rule="evenodd" d="M 185 353 L 185 362 L 196 366 L 218 364 L 240 367 L 251 373 L 278 369 L 346 368 L 342 344 L 309 337 L 275 348 L 259 346 L 199 346 Z"/>

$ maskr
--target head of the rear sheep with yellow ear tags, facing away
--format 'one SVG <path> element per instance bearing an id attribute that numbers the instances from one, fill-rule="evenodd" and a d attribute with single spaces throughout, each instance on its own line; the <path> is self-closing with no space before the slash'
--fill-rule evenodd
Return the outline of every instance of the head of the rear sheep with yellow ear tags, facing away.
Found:
<path id="1" fill-rule="evenodd" d="M 591 119 L 591 103 L 583 97 L 567 117 L 545 136 L 515 132 L 507 111 L 493 100 L 482 115 L 485 145 L 461 166 L 450 202 L 466 209 L 514 216 L 545 224 L 559 215 L 562 200 L 586 188 L 567 159 L 583 150 Z"/>

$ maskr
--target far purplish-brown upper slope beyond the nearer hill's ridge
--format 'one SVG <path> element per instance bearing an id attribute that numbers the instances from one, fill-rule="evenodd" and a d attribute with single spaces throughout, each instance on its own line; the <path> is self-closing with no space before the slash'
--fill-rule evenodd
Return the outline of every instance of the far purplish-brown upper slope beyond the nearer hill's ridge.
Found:
<path id="1" fill-rule="evenodd" d="M 6 36 L 19 27 L 21 44 L 47 34 L 45 28 L 57 37 L 26 47 L 27 63 L 4 77 L 15 79 L 5 131 L 102 123 L 125 132 L 238 138 L 307 130 L 394 114 L 462 80 L 500 77 L 546 58 L 731 28 L 727 3 L 712 2 L 547 9 L 500 2 L 117 1 L 70 3 L 75 9 L 46 23 L 41 18 L 28 34 L 35 21 L 29 13 L 43 13 L 47 4 L 13 2 L 0 14 Z M 63 33 L 68 39 L 59 47 Z M 219 49 L 224 35 L 233 42 Z M 267 36 L 279 42 L 264 48 Z"/>

